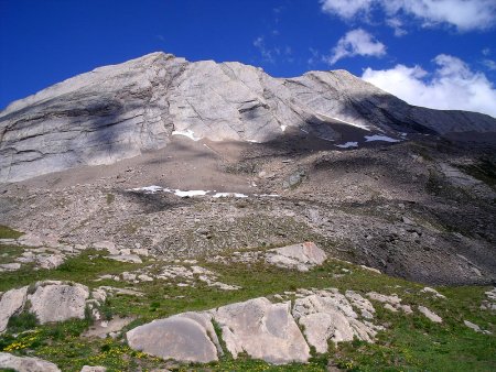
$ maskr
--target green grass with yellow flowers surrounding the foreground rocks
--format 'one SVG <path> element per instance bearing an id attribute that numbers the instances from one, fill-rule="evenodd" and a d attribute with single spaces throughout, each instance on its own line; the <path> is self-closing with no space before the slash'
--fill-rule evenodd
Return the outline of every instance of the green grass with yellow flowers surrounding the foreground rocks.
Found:
<path id="1" fill-rule="evenodd" d="M 443 318 L 435 325 L 418 311 L 411 316 L 393 314 L 375 303 L 375 322 L 387 325 L 377 341 L 369 344 L 360 341 L 339 343 L 323 355 L 314 355 L 310 363 L 283 366 L 241 355 L 233 360 L 223 357 L 206 365 L 168 364 L 174 371 L 326 371 L 327 364 L 347 371 L 494 371 L 496 370 L 496 342 L 494 336 L 476 333 L 463 325 L 470 320 L 483 329 L 496 332 L 496 316 L 478 307 L 485 298 L 487 287 L 440 287 L 446 299 L 435 299 L 419 291 L 422 285 L 376 274 L 360 267 L 330 261 L 308 273 L 288 271 L 259 263 L 240 264 L 200 262 L 219 274 L 219 281 L 236 284 L 239 291 L 219 291 L 196 282 L 194 287 L 168 285 L 164 281 L 130 284 L 123 282 L 93 282 L 98 275 L 136 270 L 142 265 L 109 261 L 101 252 L 86 251 L 68 260 L 57 270 L 31 273 L 0 274 L 1 286 L 19 287 L 37 280 L 72 280 L 89 286 L 114 285 L 133 287 L 144 294 L 114 296 L 105 304 L 106 317 L 136 315 L 138 319 L 127 327 L 131 329 L 157 318 L 186 310 L 205 310 L 222 305 L 247 300 L 259 296 L 281 294 L 296 288 L 337 287 L 344 292 L 354 289 L 362 294 L 376 291 L 382 294 L 397 293 L 405 304 L 413 308 L 424 305 Z M 144 265 L 144 264 L 143 264 Z M 351 272 L 345 273 L 342 269 Z M 30 276 L 31 275 L 31 276 Z M 7 280 L 7 282 L 4 281 Z M 180 281 L 180 280 L 177 280 Z M 8 283 L 8 284 L 4 284 Z M 1 291 L 1 289 L 0 289 Z M 19 319 L 18 319 L 19 320 Z M 109 371 L 136 371 L 164 366 L 157 358 L 133 351 L 121 339 L 86 339 L 79 335 L 89 327 L 89 320 L 72 320 L 58 325 L 34 325 L 30 319 L 20 319 L 20 329 L 31 331 L 14 337 L 12 329 L 0 336 L 0 350 L 28 353 L 55 362 L 63 371 L 79 371 L 84 364 L 106 365 Z M 19 322 L 19 321 L 18 321 Z"/>

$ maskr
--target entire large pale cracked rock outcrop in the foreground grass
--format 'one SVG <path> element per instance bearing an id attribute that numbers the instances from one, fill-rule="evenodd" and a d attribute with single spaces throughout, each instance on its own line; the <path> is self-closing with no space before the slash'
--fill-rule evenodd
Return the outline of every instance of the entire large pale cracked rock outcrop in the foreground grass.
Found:
<path id="1" fill-rule="evenodd" d="M 374 342 L 378 330 L 371 304 L 358 293 L 337 289 L 306 291 L 291 305 L 289 298 L 272 303 L 266 297 L 231 304 L 204 313 L 185 313 L 131 329 L 129 346 L 152 355 L 177 361 L 208 362 L 223 354 L 213 327 L 220 331 L 227 352 L 274 364 L 306 362 L 310 346 L 327 351 L 328 340 Z M 276 296 L 274 296 L 276 297 Z M 349 299 L 348 299 L 349 298 Z M 366 317 L 355 313 L 357 308 Z M 366 320 L 368 319 L 368 320 Z M 303 328 L 303 332 L 300 328 Z"/>

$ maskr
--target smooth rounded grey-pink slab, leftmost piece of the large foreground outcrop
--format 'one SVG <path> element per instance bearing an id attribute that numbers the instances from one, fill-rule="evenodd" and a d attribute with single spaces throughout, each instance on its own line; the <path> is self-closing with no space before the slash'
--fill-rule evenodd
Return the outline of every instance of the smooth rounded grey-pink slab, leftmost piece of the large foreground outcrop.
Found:
<path id="1" fill-rule="evenodd" d="M 215 331 L 208 315 L 185 314 L 133 328 L 126 337 L 132 349 L 151 355 L 207 363 L 218 360 L 217 347 L 211 338 L 213 335 Z"/>

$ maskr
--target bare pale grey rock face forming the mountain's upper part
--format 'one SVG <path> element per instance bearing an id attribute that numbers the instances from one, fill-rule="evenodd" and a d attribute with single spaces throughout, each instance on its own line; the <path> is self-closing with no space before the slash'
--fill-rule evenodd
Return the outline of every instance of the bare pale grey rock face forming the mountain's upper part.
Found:
<path id="1" fill-rule="evenodd" d="M 349 138 L 354 131 L 357 139 Z M 272 78 L 260 68 L 152 53 L 97 68 L 0 112 L 0 182 L 111 164 L 171 135 L 267 142 L 290 133 L 496 132 L 488 116 L 411 107 L 344 70 Z M 338 144 L 338 143 L 336 143 Z"/>

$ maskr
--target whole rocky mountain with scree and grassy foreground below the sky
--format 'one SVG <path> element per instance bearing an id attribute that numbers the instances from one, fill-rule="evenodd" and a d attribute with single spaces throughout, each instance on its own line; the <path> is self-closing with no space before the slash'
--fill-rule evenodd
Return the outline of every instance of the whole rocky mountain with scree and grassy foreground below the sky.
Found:
<path id="1" fill-rule="evenodd" d="M 154 53 L 0 113 L 0 370 L 493 371 L 496 119 Z"/>

